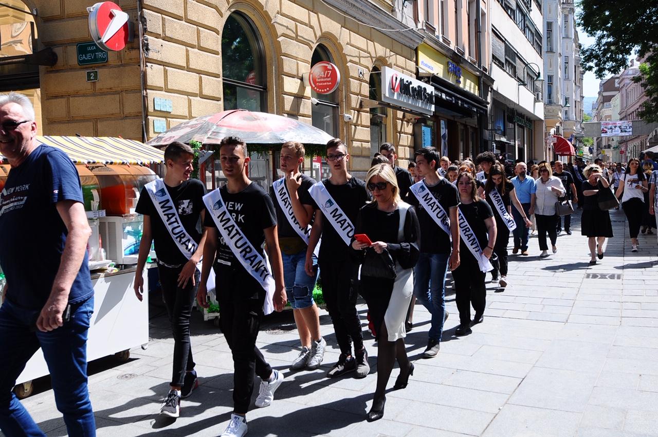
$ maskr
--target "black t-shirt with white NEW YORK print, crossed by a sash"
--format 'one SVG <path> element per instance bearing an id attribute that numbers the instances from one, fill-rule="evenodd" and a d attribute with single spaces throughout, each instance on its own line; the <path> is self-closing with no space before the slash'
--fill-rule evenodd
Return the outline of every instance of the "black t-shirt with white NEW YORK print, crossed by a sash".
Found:
<path id="1" fill-rule="evenodd" d="M 247 237 L 261 256 L 263 256 L 263 243 L 265 242 L 264 229 L 271 228 L 276 224 L 276 211 L 270 196 L 255 182 L 251 182 L 247 188 L 239 193 L 229 193 L 226 186 L 219 189 L 226 209 L 232 215 L 238 228 Z M 206 209 L 205 226 L 217 228 L 211 211 Z M 230 247 L 224 243 L 222 234 L 217 232 L 217 258 L 216 261 L 232 267 L 241 267 L 240 261 L 233 255 Z"/>

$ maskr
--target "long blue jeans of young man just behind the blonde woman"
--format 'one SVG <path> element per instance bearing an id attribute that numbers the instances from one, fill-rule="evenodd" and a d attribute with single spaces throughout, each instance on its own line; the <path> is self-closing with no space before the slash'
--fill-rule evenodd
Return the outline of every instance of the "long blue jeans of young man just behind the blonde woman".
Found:
<path id="1" fill-rule="evenodd" d="M 445 273 L 447 253 L 420 253 L 413 269 L 413 294 L 432 315 L 432 326 L 428 332 L 430 339 L 441 341 L 443 335 L 443 314 L 445 313 Z"/>

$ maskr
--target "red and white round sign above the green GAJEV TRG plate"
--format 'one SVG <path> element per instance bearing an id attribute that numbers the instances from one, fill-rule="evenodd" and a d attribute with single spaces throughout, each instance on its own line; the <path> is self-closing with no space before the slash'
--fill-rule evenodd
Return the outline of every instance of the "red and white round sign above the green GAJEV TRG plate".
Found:
<path id="1" fill-rule="evenodd" d="M 88 9 L 89 32 L 98 47 L 120 51 L 128 43 L 128 14 L 112 1 L 101 1 Z"/>

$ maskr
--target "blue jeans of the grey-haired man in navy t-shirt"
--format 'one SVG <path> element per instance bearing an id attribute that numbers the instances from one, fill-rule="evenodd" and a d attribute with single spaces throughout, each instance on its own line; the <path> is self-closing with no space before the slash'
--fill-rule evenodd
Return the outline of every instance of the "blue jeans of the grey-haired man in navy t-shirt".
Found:
<path id="1" fill-rule="evenodd" d="M 18 307 L 8 299 L 0 307 L 0 429 L 7 437 L 45 436 L 12 392 L 25 364 L 41 347 L 68 435 L 95 436 L 87 390 L 87 332 L 93 297 L 74 304 L 70 321 L 51 332 L 34 326 L 40 312 Z"/>

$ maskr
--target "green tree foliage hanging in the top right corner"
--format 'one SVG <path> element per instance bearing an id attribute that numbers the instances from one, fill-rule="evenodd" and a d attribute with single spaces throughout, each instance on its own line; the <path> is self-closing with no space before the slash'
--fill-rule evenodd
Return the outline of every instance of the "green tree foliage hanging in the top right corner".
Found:
<path id="1" fill-rule="evenodd" d="M 657 0 L 581 0 L 578 25 L 590 36 L 593 45 L 581 50 L 585 70 L 597 78 L 607 72 L 619 74 L 626 68 L 628 55 L 647 56 L 640 76 L 649 97 L 640 111 L 646 122 L 658 121 L 658 1 Z"/>

